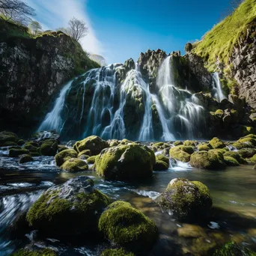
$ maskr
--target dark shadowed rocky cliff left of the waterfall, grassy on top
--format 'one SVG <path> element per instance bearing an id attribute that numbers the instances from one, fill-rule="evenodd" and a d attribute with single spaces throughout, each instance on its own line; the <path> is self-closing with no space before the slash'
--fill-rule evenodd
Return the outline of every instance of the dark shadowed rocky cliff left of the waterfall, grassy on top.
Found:
<path id="1" fill-rule="evenodd" d="M 77 72 L 97 67 L 93 61 L 88 64 L 81 46 L 60 31 L 31 38 L 9 35 L 10 29 L 19 29 L 11 23 L 1 24 L 0 28 L 0 119 L 3 129 L 16 124 L 31 126 L 61 85 Z"/>

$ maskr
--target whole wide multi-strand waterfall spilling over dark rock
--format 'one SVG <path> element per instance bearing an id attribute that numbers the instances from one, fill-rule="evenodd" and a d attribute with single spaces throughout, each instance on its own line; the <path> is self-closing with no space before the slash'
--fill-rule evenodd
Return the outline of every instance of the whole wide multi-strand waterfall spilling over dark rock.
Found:
<path id="1" fill-rule="evenodd" d="M 67 139 L 195 138 L 204 124 L 204 108 L 194 94 L 175 85 L 174 68 L 172 57 L 165 58 L 154 93 L 138 64 L 132 70 L 122 64 L 90 70 L 64 85 L 39 130 L 56 129 Z"/>

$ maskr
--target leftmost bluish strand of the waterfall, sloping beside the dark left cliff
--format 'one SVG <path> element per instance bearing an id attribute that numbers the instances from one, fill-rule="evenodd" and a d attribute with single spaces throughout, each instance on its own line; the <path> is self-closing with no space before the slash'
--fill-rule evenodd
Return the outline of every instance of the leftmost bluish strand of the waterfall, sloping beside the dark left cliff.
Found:
<path id="1" fill-rule="evenodd" d="M 52 130 L 55 129 L 57 132 L 61 132 L 61 128 L 63 126 L 63 120 L 61 118 L 61 112 L 64 109 L 65 104 L 65 97 L 67 91 L 70 90 L 73 81 L 64 85 L 64 88 L 61 89 L 61 92 L 55 101 L 55 105 L 51 112 L 46 115 L 46 118 L 43 120 L 40 127 L 37 129 L 38 131 L 41 130 Z"/>

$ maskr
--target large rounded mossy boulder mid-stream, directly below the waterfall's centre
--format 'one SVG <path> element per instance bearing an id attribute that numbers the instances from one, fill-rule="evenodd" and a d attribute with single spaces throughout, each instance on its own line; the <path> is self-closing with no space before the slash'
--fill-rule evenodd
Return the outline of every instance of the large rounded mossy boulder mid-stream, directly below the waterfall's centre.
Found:
<path id="1" fill-rule="evenodd" d="M 106 180 L 138 180 L 151 177 L 155 163 L 153 150 L 132 143 L 102 150 L 94 167 Z"/>

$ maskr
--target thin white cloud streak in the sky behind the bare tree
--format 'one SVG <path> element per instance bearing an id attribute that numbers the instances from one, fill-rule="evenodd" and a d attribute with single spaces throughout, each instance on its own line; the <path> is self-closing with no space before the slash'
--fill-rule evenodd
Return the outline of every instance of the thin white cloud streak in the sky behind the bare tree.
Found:
<path id="1" fill-rule="evenodd" d="M 67 27 L 68 21 L 74 17 L 83 19 L 88 26 L 88 35 L 81 40 L 83 48 L 90 53 L 103 55 L 103 46 L 97 39 L 86 12 L 86 0 L 25 0 L 35 9 L 35 19 L 43 24 L 43 28 L 55 30 Z"/>

